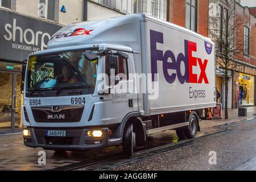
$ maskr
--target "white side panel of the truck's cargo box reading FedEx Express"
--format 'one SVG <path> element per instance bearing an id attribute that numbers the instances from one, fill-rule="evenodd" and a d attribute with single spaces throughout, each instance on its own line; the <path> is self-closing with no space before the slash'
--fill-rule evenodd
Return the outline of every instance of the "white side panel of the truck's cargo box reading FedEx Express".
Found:
<path id="1" fill-rule="evenodd" d="M 195 32 L 148 18 L 147 72 L 159 74 L 159 97 L 149 100 L 150 114 L 213 107 L 214 43 Z M 157 78 L 152 78 L 156 81 Z"/>

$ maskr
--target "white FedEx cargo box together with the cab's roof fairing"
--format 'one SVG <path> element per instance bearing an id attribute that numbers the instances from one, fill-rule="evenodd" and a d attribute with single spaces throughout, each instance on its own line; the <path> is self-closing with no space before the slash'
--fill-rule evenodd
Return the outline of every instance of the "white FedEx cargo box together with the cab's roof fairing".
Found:
<path id="1" fill-rule="evenodd" d="M 85 28 L 88 35 L 65 37 L 77 28 Z M 159 97 L 150 100 L 143 94 L 143 102 L 139 99 L 139 110 L 147 115 L 216 106 L 214 43 L 152 16 L 135 14 L 71 24 L 53 36 L 48 49 L 105 43 L 139 52 L 134 54 L 137 73 L 159 74 Z"/>

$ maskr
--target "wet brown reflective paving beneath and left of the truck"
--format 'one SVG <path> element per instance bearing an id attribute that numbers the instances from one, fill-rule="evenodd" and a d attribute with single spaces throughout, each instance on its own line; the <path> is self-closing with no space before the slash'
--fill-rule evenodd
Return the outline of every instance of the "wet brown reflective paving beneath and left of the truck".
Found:
<path id="1" fill-rule="evenodd" d="M 203 130 L 198 135 L 217 130 L 220 129 Z M 175 131 L 168 130 L 149 135 L 146 147 L 139 147 L 135 152 L 177 142 L 179 142 L 179 139 L 176 137 Z M 0 136 L 0 170 L 46 170 L 79 162 L 93 163 L 122 156 L 121 146 L 99 150 L 68 151 L 63 154 L 46 151 L 46 165 L 40 166 L 38 164 L 38 152 L 42 150 L 42 148 L 24 146 L 22 134 Z"/>

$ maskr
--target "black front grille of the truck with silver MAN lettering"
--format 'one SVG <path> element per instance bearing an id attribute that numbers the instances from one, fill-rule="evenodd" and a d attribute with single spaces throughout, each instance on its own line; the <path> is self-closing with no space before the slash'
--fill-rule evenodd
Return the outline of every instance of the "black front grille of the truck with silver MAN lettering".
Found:
<path id="1" fill-rule="evenodd" d="M 84 111 L 84 106 L 43 106 L 31 107 L 35 122 L 63 123 L 79 122 Z"/>

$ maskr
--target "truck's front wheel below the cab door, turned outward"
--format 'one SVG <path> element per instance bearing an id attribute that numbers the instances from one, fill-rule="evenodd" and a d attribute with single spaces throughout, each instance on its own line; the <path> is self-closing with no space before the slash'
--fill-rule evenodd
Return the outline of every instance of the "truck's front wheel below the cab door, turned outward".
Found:
<path id="1" fill-rule="evenodd" d="M 123 134 L 123 154 L 126 156 L 132 156 L 134 147 L 135 133 L 133 132 L 133 124 L 128 123 Z"/>

